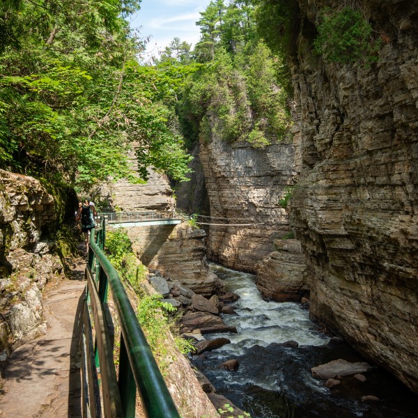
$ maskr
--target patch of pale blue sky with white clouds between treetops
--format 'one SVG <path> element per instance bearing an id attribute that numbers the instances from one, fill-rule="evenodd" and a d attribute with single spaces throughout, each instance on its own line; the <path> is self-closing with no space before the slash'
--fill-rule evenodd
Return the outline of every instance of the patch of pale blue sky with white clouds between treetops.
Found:
<path id="1" fill-rule="evenodd" d="M 144 59 L 158 57 L 158 51 L 167 47 L 174 37 L 192 43 L 200 38 L 197 20 L 210 0 L 142 0 L 141 10 L 130 17 L 132 29 L 140 29 L 139 36 L 151 36 Z"/>

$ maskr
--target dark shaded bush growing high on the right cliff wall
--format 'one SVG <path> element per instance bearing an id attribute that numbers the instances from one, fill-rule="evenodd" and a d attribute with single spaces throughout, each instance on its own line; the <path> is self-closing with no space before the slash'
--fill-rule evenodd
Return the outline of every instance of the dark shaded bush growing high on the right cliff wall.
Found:
<path id="1" fill-rule="evenodd" d="M 323 59 L 335 63 L 366 63 L 378 60 L 380 40 L 373 39 L 373 29 L 359 10 L 323 10 L 314 46 Z"/>

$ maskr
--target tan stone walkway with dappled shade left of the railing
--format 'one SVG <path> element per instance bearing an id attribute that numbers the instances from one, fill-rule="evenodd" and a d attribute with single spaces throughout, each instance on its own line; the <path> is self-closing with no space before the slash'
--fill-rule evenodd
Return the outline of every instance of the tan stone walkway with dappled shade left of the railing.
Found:
<path id="1" fill-rule="evenodd" d="M 81 417 L 79 316 L 85 262 L 44 296 L 47 334 L 11 355 L 0 395 L 0 417 Z"/>

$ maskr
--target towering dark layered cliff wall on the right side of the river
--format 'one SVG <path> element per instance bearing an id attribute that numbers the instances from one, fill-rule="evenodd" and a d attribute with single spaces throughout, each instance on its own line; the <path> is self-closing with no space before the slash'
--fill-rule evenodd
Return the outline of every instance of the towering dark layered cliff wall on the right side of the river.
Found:
<path id="1" fill-rule="evenodd" d="M 304 28 L 340 5 L 299 3 Z M 299 36 L 291 224 L 312 277 L 311 316 L 418 392 L 418 8 L 360 3 L 382 33 L 377 64 L 325 65 L 303 47 L 308 31 Z"/>

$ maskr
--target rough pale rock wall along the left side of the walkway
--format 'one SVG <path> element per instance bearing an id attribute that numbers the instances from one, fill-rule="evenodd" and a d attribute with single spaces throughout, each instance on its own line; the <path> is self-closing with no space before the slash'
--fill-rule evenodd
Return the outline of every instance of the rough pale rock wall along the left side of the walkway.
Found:
<path id="1" fill-rule="evenodd" d="M 74 207 L 62 203 L 38 180 L 0 170 L 0 351 L 45 331 L 42 289 L 63 277 L 63 265 L 50 254 L 54 242 L 43 238 L 77 208 L 75 199 Z"/>

